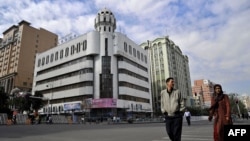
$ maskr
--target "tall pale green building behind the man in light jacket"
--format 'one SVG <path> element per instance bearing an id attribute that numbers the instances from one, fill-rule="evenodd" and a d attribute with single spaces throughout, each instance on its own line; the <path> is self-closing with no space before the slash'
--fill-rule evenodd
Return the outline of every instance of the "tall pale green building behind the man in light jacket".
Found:
<path id="1" fill-rule="evenodd" d="M 160 93 L 166 89 L 168 77 L 175 79 L 175 88 L 180 89 L 181 94 L 186 98 L 187 105 L 190 105 L 187 100 L 192 94 L 188 57 L 183 55 L 180 48 L 168 37 L 144 42 L 141 47 L 146 48 L 150 56 L 154 112 L 160 113 Z"/>

